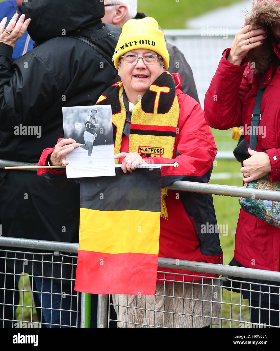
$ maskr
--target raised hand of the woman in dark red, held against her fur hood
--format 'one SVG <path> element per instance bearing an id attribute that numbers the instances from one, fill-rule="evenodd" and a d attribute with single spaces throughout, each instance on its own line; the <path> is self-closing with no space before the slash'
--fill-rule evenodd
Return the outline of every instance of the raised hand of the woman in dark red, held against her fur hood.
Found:
<path id="1" fill-rule="evenodd" d="M 235 35 L 227 60 L 234 65 L 240 65 L 249 50 L 264 42 L 266 32 L 266 28 L 255 29 L 252 25 L 246 25 L 245 22 L 243 28 Z"/>

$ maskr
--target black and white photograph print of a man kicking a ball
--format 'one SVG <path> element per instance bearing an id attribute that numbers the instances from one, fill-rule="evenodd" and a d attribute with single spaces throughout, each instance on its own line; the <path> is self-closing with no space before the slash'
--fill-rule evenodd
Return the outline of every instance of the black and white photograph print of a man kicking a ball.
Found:
<path id="1" fill-rule="evenodd" d="M 67 178 L 115 176 L 111 105 L 62 107 L 64 138 L 79 147 L 66 155 Z"/>

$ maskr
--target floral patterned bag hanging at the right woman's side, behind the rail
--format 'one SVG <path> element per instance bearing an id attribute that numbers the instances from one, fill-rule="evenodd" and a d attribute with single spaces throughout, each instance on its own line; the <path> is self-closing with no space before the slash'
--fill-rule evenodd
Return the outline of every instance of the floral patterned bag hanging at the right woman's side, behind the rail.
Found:
<path id="1" fill-rule="evenodd" d="M 268 174 L 260 179 L 244 184 L 245 188 L 280 191 L 280 182 L 271 181 Z M 239 198 L 244 211 L 253 216 L 280 228 L 280 202 L 272 200 L 256 200 L 252 198 Z"/>

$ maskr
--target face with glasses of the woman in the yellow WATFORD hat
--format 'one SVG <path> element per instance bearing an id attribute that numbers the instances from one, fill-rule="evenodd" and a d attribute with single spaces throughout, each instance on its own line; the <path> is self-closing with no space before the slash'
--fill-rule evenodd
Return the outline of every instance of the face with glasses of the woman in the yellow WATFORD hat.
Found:
<path id="1" fill-rule="evenodd" d="M 147 54 L 155 55 L 156 53 L 147 49 L 136 49 L 128 51 L 126 54 L 144 56 Z M 160 59 L 158 59 L 156 65 L 146 65 L 143 59 L 139 59 L 136 65 L 127 65 L 121 59 L 118 74 L 121 77 L 126 92 L 145 93 L 149 86 L 164 71 L 164 67 L 160 66 Z"/>

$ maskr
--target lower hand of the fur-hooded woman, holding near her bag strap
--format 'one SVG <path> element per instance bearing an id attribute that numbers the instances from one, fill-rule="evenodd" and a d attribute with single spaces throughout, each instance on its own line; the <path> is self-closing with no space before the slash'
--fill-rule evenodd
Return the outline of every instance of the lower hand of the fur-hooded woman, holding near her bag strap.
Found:
<path id="1" fill-rule="evenodd" d="M 257 152 L 250 148 L 248 148 L 248 152 L 251 157 L 243 161 L 244 167 L 240 169 L 240 171 L 244 173 L 243 181 L 245 183 L 259 179 L 271 172 L 271 165 L 267 153 Z"/>

